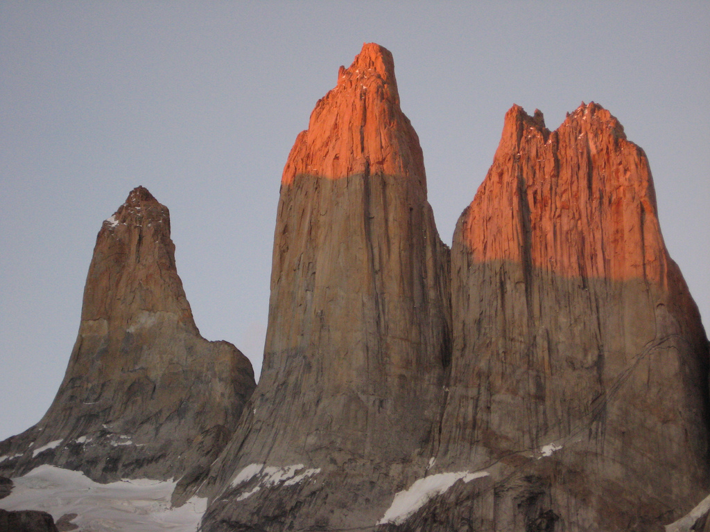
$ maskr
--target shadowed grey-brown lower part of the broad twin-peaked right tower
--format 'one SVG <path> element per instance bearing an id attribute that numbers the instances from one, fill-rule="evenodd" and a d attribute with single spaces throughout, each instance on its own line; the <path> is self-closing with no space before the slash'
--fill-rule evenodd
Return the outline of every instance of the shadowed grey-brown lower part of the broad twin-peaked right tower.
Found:
<path id="1" fill-rule="evenodd" d="M 460 308 L 479 318 L 454 320 L 427 474 L 488 475 L 387 531 L 662 532 L 704 497 L 707 348 L 689 342 L 698 321 L 667 310 L 674 297 L 640 280 L 583 286 L 532 270 L 528 317 L 520 265 L 462 271 L 479 295 Z"/>

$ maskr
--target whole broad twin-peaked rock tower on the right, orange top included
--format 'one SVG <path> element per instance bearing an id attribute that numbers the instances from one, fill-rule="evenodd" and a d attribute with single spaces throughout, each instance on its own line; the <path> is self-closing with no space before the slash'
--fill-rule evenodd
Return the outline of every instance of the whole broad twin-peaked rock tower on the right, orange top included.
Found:
<path id="1" fill-rule="evenodd" d="M 705 333 L 643 150 L 582 105 L 513 106 L 452 245 L 431 472 L 480 470 L 406 531 L 662 531 L 709 488 Z"/>

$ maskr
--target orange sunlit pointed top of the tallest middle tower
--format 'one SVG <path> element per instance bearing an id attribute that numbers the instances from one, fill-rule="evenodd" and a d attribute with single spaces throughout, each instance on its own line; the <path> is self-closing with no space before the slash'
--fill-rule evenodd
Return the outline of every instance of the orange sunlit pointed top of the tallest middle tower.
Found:
<path id="1" fill-rule="evenodd" d="M 341 179 L 353 174 L 416 179 L 425 190 L 419 138 L 400 109 L 391 53 L 366 44 L 337 86 L 318 101 L 297 136 L 281 182 L 298 175 Z"/>

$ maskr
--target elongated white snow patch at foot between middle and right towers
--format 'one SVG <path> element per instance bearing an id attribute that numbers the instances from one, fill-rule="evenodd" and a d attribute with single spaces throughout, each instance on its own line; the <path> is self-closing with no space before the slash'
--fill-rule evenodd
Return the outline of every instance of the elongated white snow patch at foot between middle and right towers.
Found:
<path id="1" fill-rule="evenodd" d="M 384 523 L 403 523 L 410 515 L 427 504 L 430 499 L 447 491 L 454 485 L 457 480 L 471 482 L 481 477 L 487 477 L 487 471 L 476 471 L 469 473 L 468 471 L 439 473 L 417 480 L 412 486 L 395 494 L 391 506 L 385 512 L 378 525 Z"/>

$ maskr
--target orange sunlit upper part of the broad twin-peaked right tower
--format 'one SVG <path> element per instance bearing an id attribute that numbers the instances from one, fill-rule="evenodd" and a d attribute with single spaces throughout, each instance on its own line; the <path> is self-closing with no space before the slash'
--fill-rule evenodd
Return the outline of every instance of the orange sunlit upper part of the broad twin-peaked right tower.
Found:
<path id="1" fill-rule="evenodd" d="M 506 113 L 465 233 L 476 260 L 525 258 L 561 275 L 660 282 L 670 268 L 645 153 L 593 102 L 552 132 L 542 113 Z"/>

